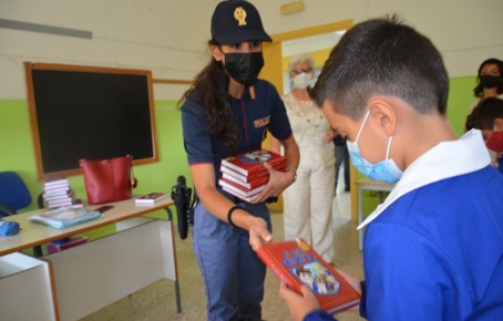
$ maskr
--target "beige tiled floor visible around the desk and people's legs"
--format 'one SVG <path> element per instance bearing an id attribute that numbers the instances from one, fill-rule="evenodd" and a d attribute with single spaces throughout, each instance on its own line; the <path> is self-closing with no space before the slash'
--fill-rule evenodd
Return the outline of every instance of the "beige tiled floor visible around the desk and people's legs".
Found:
<path id="1" fill-rule="evenodd" d="M 357 225 L 350 220 L 349 193 L 339 186 L 333 198 L 333 224 L 336 228 L 335 248 L 336 267 L 362 278 L 361 252 L 358 250 Z M 275 239 L 283 239 L 283 214 L 271 214 Z M 155 282 L 127 298 L 124 298 L 102 310 L 88 315 L 81 321 L 157 321 L 206 320 L 204 290 L 201 275 L 192 251 L 192 239 L 176 239 L 178 278 L 182 296 L 182 313 L 176 313 L 174 286 L 168 280 Z M 268 271 L 266 292 L 263 304 L 263 318 L 268 321 L 291 320 L 284 301 L 278 296 L 279 283 Z M 356 312 L 341 312 L 337 315 L 341 321 L 363 320 Z"/>

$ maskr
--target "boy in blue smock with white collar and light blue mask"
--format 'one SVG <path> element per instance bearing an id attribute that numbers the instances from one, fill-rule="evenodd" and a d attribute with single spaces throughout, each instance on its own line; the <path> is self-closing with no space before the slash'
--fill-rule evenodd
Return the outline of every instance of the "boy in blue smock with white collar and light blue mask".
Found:
<path id="1" fill-rule="evenodd" d="M 503 177 L 480 131 L 458 137 L 448 95 L 440 52 L 397 17 L 346 32 L 311 91 L 355 166 L 397 183 L 359 226 L 365 282 L 345 275 L 368 320 L 503 320 Z M 295 320 L 333 320 L 301 291 L 279 290 Z"/>

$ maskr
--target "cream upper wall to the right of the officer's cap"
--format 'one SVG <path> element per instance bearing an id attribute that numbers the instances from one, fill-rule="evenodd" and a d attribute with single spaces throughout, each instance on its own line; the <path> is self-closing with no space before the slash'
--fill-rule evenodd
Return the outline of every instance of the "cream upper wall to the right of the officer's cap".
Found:
<path id="1" fill-rule="evenodd" d="M 352 19 L 397 13 L 429 37 L 441 51 L 450 76 L 476 73 L 489 56 L 503 59 L 501 0 L 304 0 L 305 10 L 287 15 L 279 7 L 291 1 L 255 0 L 269 33 Z"/>

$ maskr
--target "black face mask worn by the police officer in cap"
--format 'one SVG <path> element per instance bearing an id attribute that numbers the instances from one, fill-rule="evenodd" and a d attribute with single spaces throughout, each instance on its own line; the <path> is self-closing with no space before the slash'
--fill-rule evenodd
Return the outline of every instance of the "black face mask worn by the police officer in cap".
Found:
<path id="1" fill-rule="evenodd" d="M 247 86 L 255 84 L 263 66 L 261 52 L 225 54 L 225 70 L 229 76 Z"/>

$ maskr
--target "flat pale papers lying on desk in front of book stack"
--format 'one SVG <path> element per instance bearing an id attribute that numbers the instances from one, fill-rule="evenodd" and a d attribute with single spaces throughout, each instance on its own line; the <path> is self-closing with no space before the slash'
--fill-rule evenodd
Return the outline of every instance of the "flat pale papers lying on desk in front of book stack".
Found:
<path id="1" fill-rule="evenodd" d="M 60 207 L 58 209 L 33 215 L 30 217 L 30 220 L 54 228 L 65 228 L 68 226 L 97 219 L 101 217 L 103 217 L 103 214 L 96 210 Z"/>

